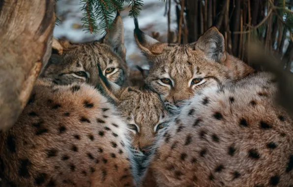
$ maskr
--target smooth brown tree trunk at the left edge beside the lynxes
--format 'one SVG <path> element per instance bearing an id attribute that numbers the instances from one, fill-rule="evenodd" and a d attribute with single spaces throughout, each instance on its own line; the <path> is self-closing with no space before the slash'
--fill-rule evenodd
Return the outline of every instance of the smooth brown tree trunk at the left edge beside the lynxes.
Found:
<path id="1" fill-rule="evenodd" d="M 0 131 L 16 122 L 51 54 L 54 0 L 0 0 Z"/>

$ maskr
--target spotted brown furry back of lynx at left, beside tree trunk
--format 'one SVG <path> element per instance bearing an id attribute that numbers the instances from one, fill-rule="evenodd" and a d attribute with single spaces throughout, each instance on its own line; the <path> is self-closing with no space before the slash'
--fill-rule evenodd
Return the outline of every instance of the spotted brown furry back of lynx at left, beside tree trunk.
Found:
<path id="1" fill-rule="evenodd" d="M 133 186 L 127 126 L 116 113 L 91 86 L 38 80 L 0 134 L 0 186 Z"/>

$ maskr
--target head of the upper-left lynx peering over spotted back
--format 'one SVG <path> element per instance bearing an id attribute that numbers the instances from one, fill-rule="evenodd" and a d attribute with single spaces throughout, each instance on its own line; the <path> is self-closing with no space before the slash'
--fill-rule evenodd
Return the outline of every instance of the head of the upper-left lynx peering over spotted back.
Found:
<path id="1" fill-rule="evenodd" d="M 56 84 L 87 82 L 98 84 L 98 67 L 109 80 L 123 85 L 128 81 L 129 68 L 125 62 L 123 23 L 117 14 L 112 29 L 100 40 L 71 43 L 54 40 L 53 54 L 41 76 Z"/>

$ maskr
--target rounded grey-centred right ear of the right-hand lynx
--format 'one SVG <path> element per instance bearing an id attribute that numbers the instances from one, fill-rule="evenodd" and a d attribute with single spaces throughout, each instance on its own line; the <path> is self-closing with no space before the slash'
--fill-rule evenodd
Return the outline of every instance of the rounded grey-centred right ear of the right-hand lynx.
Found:
<path id="1" fill-rule="evenodd" d="M 216 27 L 207 30 L 196 42 L 195 48 L 205 52 L 211 61 L 223 62 L 226 59 L 224 36 Z"/>

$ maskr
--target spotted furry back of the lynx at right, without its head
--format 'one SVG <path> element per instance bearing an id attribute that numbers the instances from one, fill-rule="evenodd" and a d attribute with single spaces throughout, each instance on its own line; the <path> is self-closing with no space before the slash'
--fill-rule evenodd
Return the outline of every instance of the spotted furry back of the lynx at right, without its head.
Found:
<path id="1" fill-rule="evenodd" d="M 154 146 L 148 175 L 157 186 L 292 186 L 293 121 L 273 80 L 255 73 L 187 101 Z"/>

